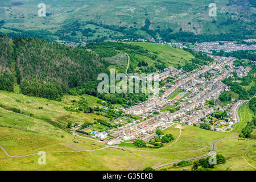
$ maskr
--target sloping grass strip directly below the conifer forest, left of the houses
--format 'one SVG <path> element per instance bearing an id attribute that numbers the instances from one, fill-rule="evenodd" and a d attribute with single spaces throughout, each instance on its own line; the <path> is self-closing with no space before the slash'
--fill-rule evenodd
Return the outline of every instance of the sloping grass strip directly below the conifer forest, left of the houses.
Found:
<path id="1" fill-rule="evenodd" d="M 98 106 L 97 100 L 98 98 L 93 96 L 82 96 L 88 100 L 89 106 Z M 94 118 L 96 119 L 106 119 L 108 118 L 102 117 L 97 114 L 85 114 L 85 113 L 71 113 L 64 109 L 64 106 L 71 106 L 71 100 L 79 100 L 79 96 L 64 96 L 63 102 L 51 101 L 44 98 L 36 98 L 36 97 L 28 97 L 24 96 L 23 94 L 16 94 L 10 92 L 3 92 L 0 91 L 0 104 L 5 110 L 13 110 L 19 109 L 20 113 L 24 115 L 24 118 L 28 119 L 40 119 L 43 121 L 53 121 L 59 123 L 60 126 L 66 126 L 67 122 L 77 122 L 77 123 L 84 123 L 84 122 L 92 122 Z M 43 109 L 40 109 L 42 108 Z M 0 110 L 1 112 L 1 110 Z M 11 114 L 16 115 L 14 112 Z M 23 118 L 19 116 L 19 119 Z M 1 115 L 0 115 L 1 118 Z M 3 118 L 3 117 L 2 117 Z M 9 117 L 12 118 L 12 117 Z M 8 117 L 5 117 L 8 119 Z M 4 125 L 1 122 L 0 125 Z M 19 123 L 20 125 L 20 123 Z"/>

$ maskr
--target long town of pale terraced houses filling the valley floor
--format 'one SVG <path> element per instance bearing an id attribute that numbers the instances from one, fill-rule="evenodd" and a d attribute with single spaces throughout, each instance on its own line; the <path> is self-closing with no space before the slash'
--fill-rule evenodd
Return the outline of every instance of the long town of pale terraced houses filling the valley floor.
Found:
<path id="1" fill-rule="evenodd" d="M 152 97 L 127 109 L 116 109 L 123 114 L 111 122 L 119 126 L 108 132 L 93 131 L 90 135 L 113 145 L 138 138 L 148 142 L 157 136 L 157 129 L 166 130 L 174 123 L 191 126 L 206 123 L 213 131 L 231 131 L 232 125 L 239 122 L 238 108 L 243 101 L 232 100 L 225 106 L 212 105 L 210 101 L 217 100 L 222 92 L 230 90 L 229 86 L 221 82 L 224 78 L 233 77 L 233 72 L 240 77 L 246 76 L 251 68 L 236 67 L 234 61 L 237 59 L 234 57 L 207 56 L 214 61 L 192 72 L 174 67 L 164 69 L 164 72 L 159 73 L 159 81 L 171 81 L 160 88 L 159 97 Z M 101 108 L 108 110 L 106 106 Z M 226 117 L 213 117 L 220 113 L 226 113 Z M 75 133 L 81 135 L 77 131 Z"/>

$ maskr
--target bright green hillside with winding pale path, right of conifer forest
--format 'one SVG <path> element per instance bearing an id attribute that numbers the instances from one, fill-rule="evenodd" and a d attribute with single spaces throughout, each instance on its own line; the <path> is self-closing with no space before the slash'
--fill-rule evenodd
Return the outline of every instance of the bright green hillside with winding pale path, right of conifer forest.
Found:
<path id="1" fill-rule="evenodd" d="M 122 73 L 125 73 L 127 68 L 127 55 L 130 57 L 127 73 L 153 73 L 170 66 L 183 66 L 186 63 L 191 63 L 191 59 L 195 58 L 183 49 L 156 43 L 104 42 L 89 44 L 86 48 L 92 49 L 108 61 L 111 64 L 109 69 L 115 68 Z"/>

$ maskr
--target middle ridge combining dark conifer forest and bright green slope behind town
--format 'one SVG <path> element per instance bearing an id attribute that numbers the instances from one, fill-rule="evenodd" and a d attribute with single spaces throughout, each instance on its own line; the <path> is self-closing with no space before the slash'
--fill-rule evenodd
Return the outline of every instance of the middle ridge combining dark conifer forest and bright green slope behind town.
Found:
<path id="1" fill-rule="evenodd" d="M 181 68 L 195 58 L 183 49 L 154 43 L 105 42 L 74 48 L 7 35 L 0 35 L 0 48 L 0 90 L 14 92 L 17 85 L 20 93 L 51 100 L 60 100 L 79 86 L 92 94 L 98 74 L 111 68 L 125 73 L 127 55 L 128 73 L 153 73 L 170 65 Z"/>

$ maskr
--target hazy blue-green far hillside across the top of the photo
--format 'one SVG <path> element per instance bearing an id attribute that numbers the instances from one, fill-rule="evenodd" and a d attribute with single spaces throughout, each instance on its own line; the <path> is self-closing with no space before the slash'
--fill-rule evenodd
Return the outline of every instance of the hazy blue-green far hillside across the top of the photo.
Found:
<path id="1" fill-rule="evenodd" d="M 148 39 L 151 36 L 157 38 L 157 35 L 167 42 L 172 39 L 185 41 L 186 38 L 201 42 L 209 39 L 243 39 L 255 34 L 256 9 L 252 0 L 214 1 L 217 5 L 216 17 L 209 16 L 210 0 L 45 1 L 46 17 L 38 17 L 37 5 L 40 2 L 1 1 L 0 17 L 4 23 L 0 24 L 0 32 L 14 37 L 23 35 L 68 42 Z M 149 24 L 146 23 L 147 19 Z"/>

